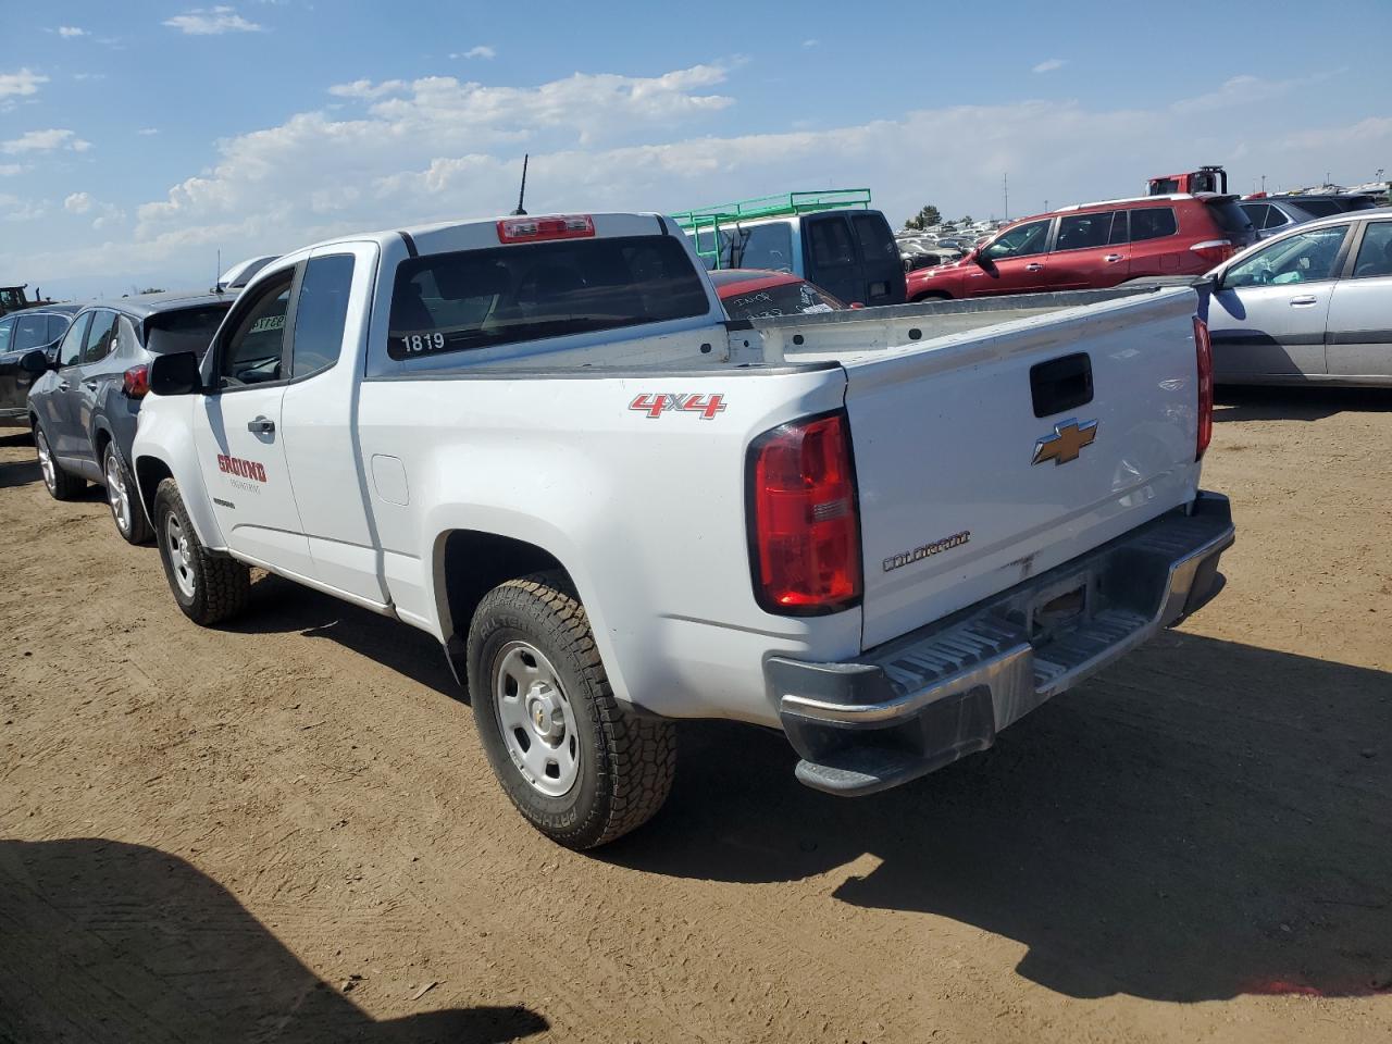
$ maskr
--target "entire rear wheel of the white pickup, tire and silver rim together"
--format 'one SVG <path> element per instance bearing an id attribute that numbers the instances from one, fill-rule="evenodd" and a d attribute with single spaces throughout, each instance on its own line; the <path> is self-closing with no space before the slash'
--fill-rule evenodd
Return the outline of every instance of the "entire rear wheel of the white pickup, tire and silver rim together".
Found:
<path id="1" fill-rule="evenodd" d="M 640 827 L 667 800 L 670 721 L 610 689 L 569 580 L 540 572 L 494 587 L 469 628 L 469 695 L 494 775 L 528 821 L 574 849 Z"/>

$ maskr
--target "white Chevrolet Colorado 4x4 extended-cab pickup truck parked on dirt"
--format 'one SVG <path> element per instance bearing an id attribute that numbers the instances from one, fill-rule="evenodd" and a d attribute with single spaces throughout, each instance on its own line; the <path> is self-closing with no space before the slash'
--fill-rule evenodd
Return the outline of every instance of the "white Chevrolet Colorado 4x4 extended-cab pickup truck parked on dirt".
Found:
<path id="1" fill-rule="evenodd" d="M 869 793 L 1201 606 L 1233 529 L 1194 310 L 736 323 L 656 214 L 349 237 L 153 363 L 135 475 L 188 617 L 262 567 L 430 632 L 518 809 L 587 848 L 663 803 L 675 718 Z"/>

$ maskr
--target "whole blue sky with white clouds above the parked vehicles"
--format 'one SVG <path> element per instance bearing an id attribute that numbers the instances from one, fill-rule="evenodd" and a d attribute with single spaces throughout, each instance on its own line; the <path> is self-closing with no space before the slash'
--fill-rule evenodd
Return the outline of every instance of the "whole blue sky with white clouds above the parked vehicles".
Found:
<path id="1" fill-rule="evenodd" d="M 0 284 L 60 295 L 505 212 L 523 152 L 533 212 L 870 187 L 895 223 L 999 216 L 1006 171 L 1019 216 L 1392 167 L 1385 0 L 6 8 Z"/>

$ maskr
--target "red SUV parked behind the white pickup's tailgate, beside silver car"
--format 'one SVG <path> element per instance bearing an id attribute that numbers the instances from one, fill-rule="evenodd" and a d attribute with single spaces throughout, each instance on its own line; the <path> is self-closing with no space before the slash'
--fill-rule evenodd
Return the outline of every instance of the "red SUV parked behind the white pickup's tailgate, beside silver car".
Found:
<path id="1" fill-rule="evenodd" d="M 909 301 L 1201 276 L 1257 238 L 1236 199 L 1211 192 L 1141 196 L 1026 217 L 955 264 L 910 271 Z"/>

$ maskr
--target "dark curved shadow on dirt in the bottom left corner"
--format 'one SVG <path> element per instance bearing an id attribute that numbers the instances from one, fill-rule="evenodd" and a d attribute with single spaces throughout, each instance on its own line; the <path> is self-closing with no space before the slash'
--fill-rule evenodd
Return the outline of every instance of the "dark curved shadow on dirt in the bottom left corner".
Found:
<path id="1" fill-rule="evenodd" d="M 550 1027 L 523 1006 L 376 1022 L 189 863 L 100 838 L 0 841 L 0 1040 L 500 1044 Z"/>

